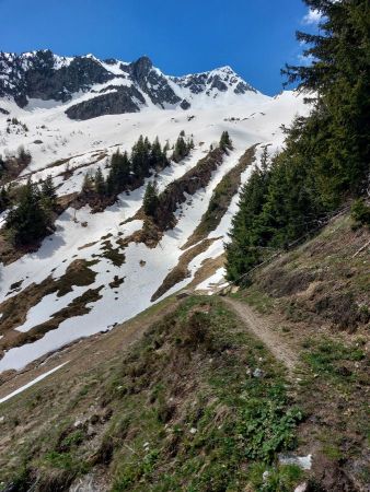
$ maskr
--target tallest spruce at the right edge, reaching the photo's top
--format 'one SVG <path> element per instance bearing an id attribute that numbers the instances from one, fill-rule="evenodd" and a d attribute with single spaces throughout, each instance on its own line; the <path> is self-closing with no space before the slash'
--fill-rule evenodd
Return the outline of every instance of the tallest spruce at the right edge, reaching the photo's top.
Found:
<path id="1" fill-rule="evenodd" d="M 322 14 L 319 34 L 297 33 L 309 66 L 286 66 L 288 83 L 315 96 L 313 149 L 319 190 L 329 207 L 361 194 L 370 163 L 370 4 L 368 0 L 305 0 Z M 324 144 L 320 144 L 324 141 Z"/>

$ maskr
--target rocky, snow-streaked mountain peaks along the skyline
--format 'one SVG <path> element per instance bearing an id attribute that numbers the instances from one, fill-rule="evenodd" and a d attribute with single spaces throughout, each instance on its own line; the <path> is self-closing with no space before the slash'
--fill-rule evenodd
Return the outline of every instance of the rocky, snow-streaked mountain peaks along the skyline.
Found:
<path id="1" fill-rule="evenodd" d="M 12 98 L 22 108 L 31 99 L 65 103 L 71 119 L 137 113 L 146 107 L 223 105 L 248 94 L 262 96 L 230 67 L 169 77 L 148 57 L 127 63 L 93 55 L 60 57 L 50 50 L 0 52 L 0 97 Z"/>

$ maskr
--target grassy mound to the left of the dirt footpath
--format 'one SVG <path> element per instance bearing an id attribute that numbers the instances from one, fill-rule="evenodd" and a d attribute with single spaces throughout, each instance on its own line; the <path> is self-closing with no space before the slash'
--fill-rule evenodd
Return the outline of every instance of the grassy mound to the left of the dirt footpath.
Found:
<path id="1" fill-rule="evenodd" d="M 296 444 L 302 414 L 286 384 L 221 301 L 190 297 L 78 385 L 41 386 L 7 403 L 1 480 L 14 491 L 67 490 L 78 479 L 113 491 L 259 487 L 258 470 Z M 47 426 L 32 425 L 46 415 Z M 302 475 L 273 469 L 281 490 Z"/>

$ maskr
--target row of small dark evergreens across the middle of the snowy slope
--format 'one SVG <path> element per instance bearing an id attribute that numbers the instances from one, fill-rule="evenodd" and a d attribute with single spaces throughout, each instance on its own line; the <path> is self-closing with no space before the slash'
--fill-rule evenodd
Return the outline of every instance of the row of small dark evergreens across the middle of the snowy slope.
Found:
<path id="1" fill-rule="evenodd" d="M 185 141 L 185 133 L 181 132 L 173 149 L 172 159 L 182 161 L 194 149 L 193 139 Z M 146 177 L 158 173 L 170 165 L 167 153 L 169 143 L 162 148 L 158 137 L 151 143 L 142 136 L 134 144 L 130 156 L 119 149 L 111 159 L 109 173 L 104 178 L 102 169 L 99 167 L 95 175 L 86 174 L 82 185 L 82 194 L 85 196 L 97 195 L 99 197 L 116 197 L 118 194 L 135 188 L 142 184 Z"/>

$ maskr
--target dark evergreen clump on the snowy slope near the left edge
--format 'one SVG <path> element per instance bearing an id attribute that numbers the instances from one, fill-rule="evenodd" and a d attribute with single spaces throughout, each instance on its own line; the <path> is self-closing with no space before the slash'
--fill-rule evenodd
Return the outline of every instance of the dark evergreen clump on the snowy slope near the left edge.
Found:
<path id="1" fill-rule="evenodd" d="M 21 188 L 19 199 L 7 216 L 5 230 L 9 238 L 15 246 L 22 246 L 45 237 L 53 229 L 56 210 L 57 195 L 51 176 L 41 186 L 30 178 Z"/>

